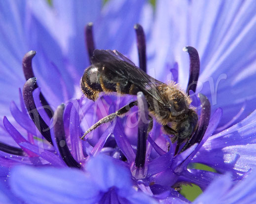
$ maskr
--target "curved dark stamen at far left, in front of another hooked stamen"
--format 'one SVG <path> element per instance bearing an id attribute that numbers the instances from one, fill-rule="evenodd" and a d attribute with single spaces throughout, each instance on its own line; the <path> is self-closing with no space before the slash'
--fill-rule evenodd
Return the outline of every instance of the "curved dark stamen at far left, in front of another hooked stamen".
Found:
<path id="1" fill-rule="evenodd" d="M 29 79 L 24 87 L 23 87 L 23 99 L 25 106 L 28 110 L 28 113 L 35 123 L 37 129 L 40 131 L 42 136 L 50 143 L 52 144 L 51 134 L 50 134 L 50 128 L 49 126 L 44 122 L 42 117 L 39 115 L 37 111 L 37 107 L 34 101 L 33 97 L 33 91 L 36 88 L 37 78 L 31 78 Z"/>

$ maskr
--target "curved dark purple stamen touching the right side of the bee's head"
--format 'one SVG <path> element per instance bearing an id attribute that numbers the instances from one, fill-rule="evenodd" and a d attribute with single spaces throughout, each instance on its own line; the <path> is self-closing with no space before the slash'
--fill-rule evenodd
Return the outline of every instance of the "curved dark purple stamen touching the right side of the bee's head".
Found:
<path id="1" fill-rule="evenodd" d="M 210 116 L 211 116 L 211 104 L 205 95 L 199 93 L 198 96 L 201 101 L 201 107 L 202 107 L 201 116 L 198 122 L 198 127 L 195 134 L 193 135 L 191 140 L 187 143 L 187 146 L 183 147 L 182 151 L 194 145 L 195 143 L 199 144 L 202 141 L 205 131 L 209 125 Z"/>

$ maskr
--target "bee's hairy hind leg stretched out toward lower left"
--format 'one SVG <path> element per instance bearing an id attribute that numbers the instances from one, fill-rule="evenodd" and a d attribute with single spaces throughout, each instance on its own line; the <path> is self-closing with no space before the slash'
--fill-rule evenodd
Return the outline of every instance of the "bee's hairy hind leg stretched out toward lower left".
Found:
<path id="1" fill-rule="evenodd" d="M 97 127 L 99 127 L 100 125 L 104 124 L 104 123 L 107 123 L 107 122 L 110 122 L 112 121 L 115 117 L 118 117 L 118 116 L 121 116 L 125 113 L 127 113 L 128 111 L 130 111 L 130 109 L 133 107 L 133 106 L 136 106 L 138 104 L 137 101 L 133 101 L 131 103 L 129 103 L 128 105 L 120 108 L 118 111 L 116 111 L 115 113 L 112 113 L 110 114 L 109 116 L 106 116 L 106 117 L 103 117 L 102 119 L 100 119 L 98 122 L 96 122 L 94 125 L 92 125 L 84 134 L 83 136 L 81 137 L 81 140 L 84 139 L 84 137 L 89 133 L 91 132 L 92 130 L 96 129 Z"/>

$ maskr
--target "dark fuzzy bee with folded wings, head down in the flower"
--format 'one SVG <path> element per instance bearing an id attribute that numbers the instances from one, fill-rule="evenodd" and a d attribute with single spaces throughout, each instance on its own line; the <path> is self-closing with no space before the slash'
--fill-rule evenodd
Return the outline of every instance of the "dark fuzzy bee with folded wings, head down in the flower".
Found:
<path id="1" fill-rule="evenodd" d="M 148 125 L 148 132 L 152 128 L 152 117 L 156 118 L 168 135 L 174 135 L 172 142 L 178 140 L 178 143 L 182 143 L 195 132 L 198 116 L 195 110 L 190 108 L 190 97 L 178 84 L 171 81 L 167 85 L 150 77 L 116 50 L 94 50 L 91 63 L 80 81 L 81 90 L 87 98 L 95 101 L 100 92 L 137 95 L 142 91 L 150 115 L 151 124 Z M 137 101 L 133 101 L 100 119 L 81 139 L 101 124 L 123 116 L 136 105 Z"/>

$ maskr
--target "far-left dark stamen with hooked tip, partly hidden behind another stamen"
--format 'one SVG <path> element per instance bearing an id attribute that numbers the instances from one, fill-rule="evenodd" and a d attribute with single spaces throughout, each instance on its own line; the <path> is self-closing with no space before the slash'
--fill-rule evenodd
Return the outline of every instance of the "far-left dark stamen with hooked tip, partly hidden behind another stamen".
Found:
<path id="1" fill-rule="evenodd" d="M 32 50 L 32 51 L 29 51 L 28 53 L 26 53 L 23 57 L 22 68 L 23 68 L 23 73 L 24 73 L 26 80 L 29 80 L 30 78 L 35 77 L 34 72 L 33 72 L 33 67 L 32 67 L 32 59 L 34 58 L 34 56 L 36 54 L 37 54 L 37 52 Z M 36 84 L 35 88 L 37 88 L 37 87 L 38 86 Z M 51 109 L 49 103 L 44 98 L 44 96 L 41 92 L 39 94 L 39 98 L 40 98 L 40 102 L 41 102 L 42 106 L 44 107 L 43 109 L 46 112 L 47 116 L 49 118 L 52 118 L 53 110 Z"/>

